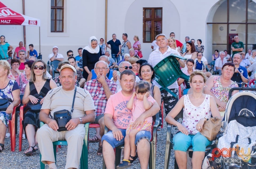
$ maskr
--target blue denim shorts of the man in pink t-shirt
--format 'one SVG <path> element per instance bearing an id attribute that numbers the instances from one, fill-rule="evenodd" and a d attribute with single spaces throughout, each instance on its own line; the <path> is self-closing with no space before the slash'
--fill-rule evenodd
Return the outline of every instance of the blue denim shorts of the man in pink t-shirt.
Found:
<path id="1" fill-rule="evenodd" d="M 123 136 L 125 136 L 126 129 L 119 129 L 119 130 L 121 130 Z M 139 131 L 135 137 L 135 145 L 137 146 L 139 141 L 141 141 L 142 139 L 147 139 L 148 141 L 150 141 L 151 133 L 146 130 Z M 114 138 L 112 131 L 109 131 L 106 134 L 104 134 L 101 138 L 102 142 L 103 140 L 106 140 L 113 148 L 123 145 L 125 143 L 125 137 L 123 137 L 123 139 L 119 141 Z"/>

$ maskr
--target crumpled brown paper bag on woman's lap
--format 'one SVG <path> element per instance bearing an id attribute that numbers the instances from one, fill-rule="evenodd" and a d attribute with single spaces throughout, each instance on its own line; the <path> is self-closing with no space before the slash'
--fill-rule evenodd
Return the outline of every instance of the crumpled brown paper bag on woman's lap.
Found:
<path id="1" fill-rule="evenodd" d="M 218 117 L 211 117 L 203 124 L 203 129 L 200 133 L 208 140 L 213 141 L 215 140 L 220 128 L 221 119 Z"/>

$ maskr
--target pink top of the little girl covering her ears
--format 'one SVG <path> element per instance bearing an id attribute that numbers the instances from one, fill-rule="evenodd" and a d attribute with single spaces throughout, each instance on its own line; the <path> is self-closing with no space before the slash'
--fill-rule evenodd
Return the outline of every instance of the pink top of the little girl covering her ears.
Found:
<path id="1" fill-rule="evenodd" d="M 155 99 L 152 96 L 147 97 L 147 100 L 154 104 Z M 131 119 L 131 122 L 134 122 L 142 113 L 144 113 L 146 110 L 143 105 L 143 100 L 139 101 L 136 97 L 133 100 L 133 118 Z M 152 123 L 152 117 L 147 117 L 145 121 Z"/>

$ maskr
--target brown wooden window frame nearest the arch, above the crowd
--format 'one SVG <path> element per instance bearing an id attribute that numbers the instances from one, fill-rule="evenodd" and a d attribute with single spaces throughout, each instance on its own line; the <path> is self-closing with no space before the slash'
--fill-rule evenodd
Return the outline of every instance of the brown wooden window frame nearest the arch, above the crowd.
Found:
<path id="1" fill-rule="evenodd" d="M 151 9 L 152 11 L 152 15 L 151 15 L 151 18 L 145 18 L 146 17 L 146 10 L 148 9 Z M 161 9 L 161 18 L 155 18 L 155 10 L 157 9 Z M 155 21 L 161 21 L 161 33 L 162 33 L 162 30 L 163 30 L 163 8 L 162 7 L 158 7 L 158 8 L 143 8 L 143 43 L 152 43 L 152 41 L 155 40 L 155 32 L 158 32 L 158 31 L 155 31 L 154 28 L 155 28 Z M 151 41 L 146 41 L 146 21 L 151 21 L 151 29 L 150 29 L 150 37 L 151 37 Z"/>

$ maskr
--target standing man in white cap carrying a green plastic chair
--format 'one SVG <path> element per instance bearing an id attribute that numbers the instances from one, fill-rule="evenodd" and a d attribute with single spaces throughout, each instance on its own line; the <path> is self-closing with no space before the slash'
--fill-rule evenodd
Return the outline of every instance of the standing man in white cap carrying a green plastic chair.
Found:
<path id="1" fill-rule="evenodd" d="M 158 45 L 158 47 L 150 53 L 149 55 L 149 60 L 148 63 L 150 65 L 152 65 L 153 67 L 155 65 L 157 65 L 161 60 L 163 60 L 164 58 L 166 58 L 167 56 L 169 56 L 170 54 L 176 54 L 179 55 L 179 52 L 171 49 L 168 45 L 167 45 L 167 37 L 165 36 L 165 34 L 159 34 L 155 37 L 156 43 Z M 177 59 L 177 58 L 176 58 Z M 185 67 L 185 62 L 181 59 L 177 59 L 179 62 L 179 65 L 181 67 Z M 158 83 L 156 83 L 156 81 L 153 81 L 154 85 L 157 85 L 159 88 L 161 87 Z M 175 81 L 173 84 L 171 84 L 168 87 L 172 92 L 174 92 L 176 95 L 178 95 L 178 83 L 177 81 Z M 166 115 L 171 111 L 171 109 L 175 106 L 175 104 L 178 102 L 178 98 L 175 98 L 173 95 L 171 95 L 170 93 L 168 93 L 166 90 L 162 90 L 161 91 L 161 99 L 164 101 L 165 103 L 165 113 Z M 178 120 L 179 118 L 181 118 L 181 113 L 179 113 L 177 115 L 177 118 L 175 118 L 175 120 Z"/>

